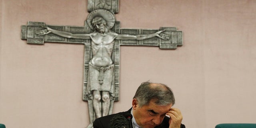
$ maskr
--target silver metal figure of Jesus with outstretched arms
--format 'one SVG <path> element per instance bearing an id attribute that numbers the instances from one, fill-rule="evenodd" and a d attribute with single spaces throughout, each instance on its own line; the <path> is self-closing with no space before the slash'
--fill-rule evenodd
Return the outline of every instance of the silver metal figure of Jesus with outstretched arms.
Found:
<path id="1" fill-rule="evenodd" d="M 96 118 L 99 118 L 108 115 L 111 95 L 114 89 L 114 64 L 111 59 L 114 40 L 144 40 L 155 36 L 168 40 L 170 37 L 162 35 L 161 32 L 164 30 L 143 35 L 117 34 L 110 30 L 106 20 L 100 16 L 93 18 L 91 24 L 94 32 L 90 34 L 72 34 L 49 27 L 44 27 L 46 29 L 39 30 L 36 34 L 40 36 L 53 33 L 65 38 L 92 40 L 93 56 L 89 63 L 87 93 L 92 94 Z"/>

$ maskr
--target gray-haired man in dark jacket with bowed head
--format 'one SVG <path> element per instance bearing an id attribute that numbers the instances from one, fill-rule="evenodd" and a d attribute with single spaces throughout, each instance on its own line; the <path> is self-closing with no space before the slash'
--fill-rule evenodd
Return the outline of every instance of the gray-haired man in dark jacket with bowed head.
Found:
<path id="1" fill-rule="evenodd" d="M 185 125 L 181 124 L 180 110 L 172 108 L 174 103 L 174 95 L 168 86 L 144 82 L 134 95 L 132 108 L 118 114 L 125 116 L 131 113 L 133 118 L 130 127 L 132 128 L 185 128 Z M 112 114 L 96 119 L 93 127 L 110 128 L 109 122 L 116 115 Z"/>

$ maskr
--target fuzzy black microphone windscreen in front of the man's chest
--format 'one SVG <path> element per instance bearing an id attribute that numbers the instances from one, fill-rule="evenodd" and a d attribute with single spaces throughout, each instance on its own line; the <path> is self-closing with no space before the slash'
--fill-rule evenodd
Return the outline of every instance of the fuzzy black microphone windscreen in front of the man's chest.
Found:
<path id="1" fill-rule="evenodd" d="M 110 120 L 109 128 L 130 128 L 128 120 L 121 114 L 116 114 Z"/>

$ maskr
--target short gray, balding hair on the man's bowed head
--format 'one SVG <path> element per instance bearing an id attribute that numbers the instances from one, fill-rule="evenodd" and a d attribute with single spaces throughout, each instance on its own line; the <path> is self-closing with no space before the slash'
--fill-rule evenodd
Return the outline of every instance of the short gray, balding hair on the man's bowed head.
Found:
<path id="1" fill-rule="evenodd" d="M 161 83 L 143 82 L 140 84 L 133 98 L 138 100 L 140 107 L 148 105 L 151 100 L 160 106 L 174 105 L 175 103 L 172 90 Z"/>

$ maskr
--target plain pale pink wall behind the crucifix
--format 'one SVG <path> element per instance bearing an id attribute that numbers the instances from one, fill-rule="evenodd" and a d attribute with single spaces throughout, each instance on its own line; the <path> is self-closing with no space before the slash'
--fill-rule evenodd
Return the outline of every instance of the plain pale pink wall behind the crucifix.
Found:
<path id="1" fill-rule="evenodd" d="M 0 0 L 0 123 L 7 128 L 85 128 L 84 46 L 20 39 L 27 21 L 84 26 L 87 0 Z M 176 50 L 122 46 L 120 101 L 141 82 L 170 86 L 188 128 L 256 123 L 255 0 L 120 0 L 121 28 L 177 27 Z"/>

